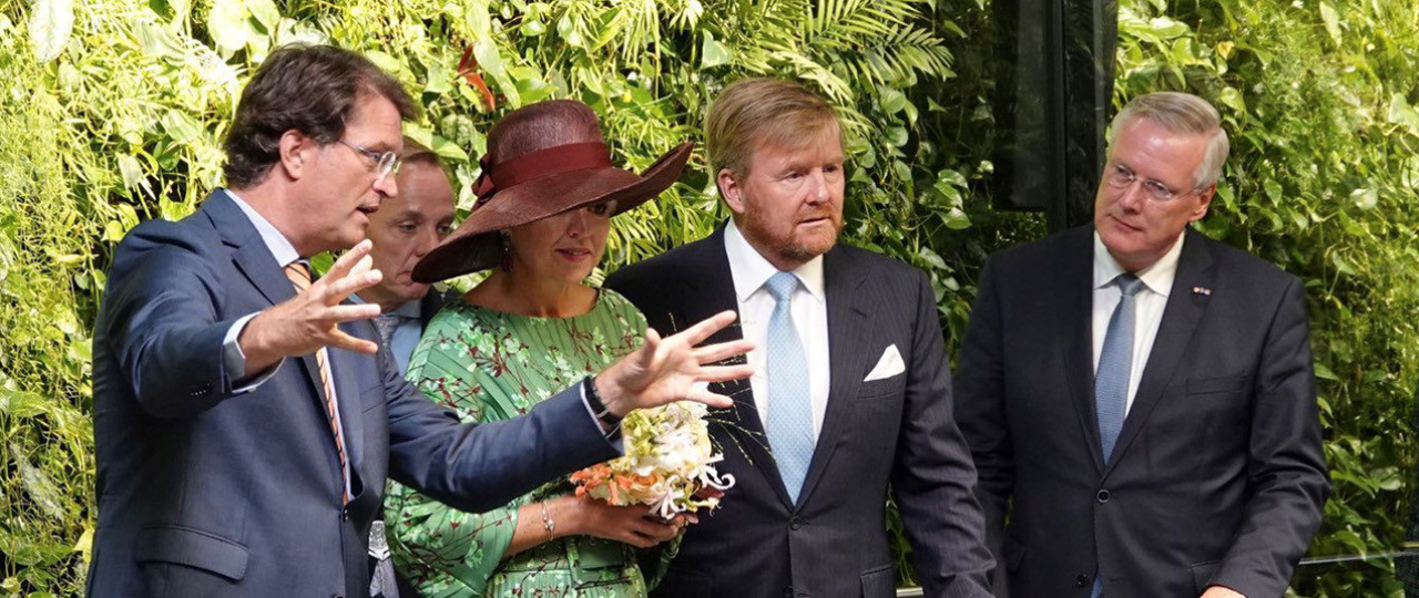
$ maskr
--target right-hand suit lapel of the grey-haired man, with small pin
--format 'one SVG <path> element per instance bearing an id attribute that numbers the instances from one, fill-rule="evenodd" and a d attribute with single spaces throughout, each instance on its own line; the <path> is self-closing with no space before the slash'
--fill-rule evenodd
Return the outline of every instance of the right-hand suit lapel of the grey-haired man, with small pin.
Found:
<path id="1" fill-rule="evenodd" d="M 1128 445 L 1138 436 L 1138 431 L 1142 429 L 1154 407 L 1158 407 L 1164 388 L 1172 381 L 1178 364 L 1192 342 L 1198 320 L 1208 309 L 1209 295 L 1192 292 L 1193 288 L 1199 286 L 1210 289 L 1216 279 L 1216 272 L 1212 269 L 1212 251 L 1205 241 L 1200 234 L 1188 230 L 1182 255 L 1178 258 L 1178 275 L 1172 281 L 1168 305 L 1162 312 L 1158 337 L 1154 340 L 1152 353 L 1148 354 L 1148 364 L 1144 366 L 1142 380 L 1138 381 L 1138 394 L 1134 395 L 1134 404 L 1128 408 L 1124 427 L 1118 431 L 1118 444 L 1114 448 L 1117 456 L 1104 470 L 1104 476 L 1108 476 L 1114 466 L 1122 461 Z"/>

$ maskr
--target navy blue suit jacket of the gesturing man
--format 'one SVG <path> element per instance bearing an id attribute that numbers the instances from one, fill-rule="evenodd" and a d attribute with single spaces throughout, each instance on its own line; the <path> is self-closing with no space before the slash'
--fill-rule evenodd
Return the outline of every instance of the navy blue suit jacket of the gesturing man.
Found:
<path id="1" fill-rule="evenodd" d="M 363 597 L 392 476 L 463 510 L 616 456 L 578 390 L 525 418 L 460 425 L 386 351 L 331 350 L 355 499 L 314 356 L 236 394 L 221 342 L 295 295 L 245 214 L 214 194 L 118 247 L 94 337 L 98 530 L 91 597 Z M 342 329 L 376 339 L 369 322 Z"/>

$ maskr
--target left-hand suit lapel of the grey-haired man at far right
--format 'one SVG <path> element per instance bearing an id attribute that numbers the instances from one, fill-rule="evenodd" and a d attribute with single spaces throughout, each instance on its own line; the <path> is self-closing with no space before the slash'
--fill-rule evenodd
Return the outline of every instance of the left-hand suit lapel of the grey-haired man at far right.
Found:
<path id="1" fill-rule="evenodd" d="M 1064 251 L 1054 269 L 1054 292 L 1060 300 L 1054 317 L 1054 337 L 1064 354 L 1064 378 L 1080 432 L 1088 444 L 1097 472 L 1104 470 L 1098 421 L 1094 415 L 1094 228 L 1084 227 L 1067 234 Z"/>

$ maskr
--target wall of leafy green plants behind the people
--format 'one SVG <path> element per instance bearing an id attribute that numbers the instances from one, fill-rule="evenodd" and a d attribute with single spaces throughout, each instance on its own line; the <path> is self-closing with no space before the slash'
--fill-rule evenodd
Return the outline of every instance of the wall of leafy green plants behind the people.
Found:
<path id="1" fill-rule="evenodd" d="M 275 45 L 331 41 L 394 72 L 424 108 L 407 130 L 453 164 L 463 210 L 468 157 L 508 109 L 582 99 L 617 162 L 639 170 L 700 139 L 707 99 L 728 81 L 797 77 L 849 123 L 847 238 L 931 272 L 954 346 L 985 255 L 1043 234 L 1037 215 L 989 208 L 989 3 L 0 0 L 0 595 L 82 591 L 104 272 L 129 228 L 180 218 L 220 184 L 236 98 Z M 1335 483 L 1311 554 L 1396 548 L 1416 469 L 1419 7 L 1120 4 L 1117 99 L 1193 91 L 1232 132 L 1200 228 L 1305 281 Z M 495 109 L 455 77 L 465 45 Z M 697 154 L 657 204 L 616 221 L 603 265 L 702 237 L 722 217 Z M 1303 567 L 1293 588 L 1399 592 L 1386 560 Z"/>

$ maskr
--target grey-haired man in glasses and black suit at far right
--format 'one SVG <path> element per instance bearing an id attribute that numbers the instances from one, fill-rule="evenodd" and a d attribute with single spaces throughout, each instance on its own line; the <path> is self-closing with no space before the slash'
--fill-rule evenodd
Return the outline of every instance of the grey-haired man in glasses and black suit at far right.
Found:
<path id="1" fill-rule="evenodd" d="M 998 597 L 1279 598 L 1330 493 L 1301 281 L 1189 228 L 1227 136 L 1114 119 L 1094 224 L 993 255 L 955 373 Z"/>

